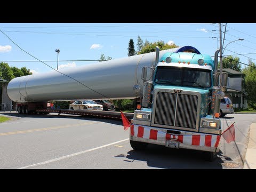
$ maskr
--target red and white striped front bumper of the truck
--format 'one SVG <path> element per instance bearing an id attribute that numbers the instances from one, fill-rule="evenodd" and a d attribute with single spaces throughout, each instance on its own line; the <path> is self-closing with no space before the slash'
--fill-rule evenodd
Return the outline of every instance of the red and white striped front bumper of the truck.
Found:
<path id="1" fill-rule="evenodd" d="M 166 131 L 166 129 L 158 127 L 131 124 L 130 139 L 163 146 L 165 146 L 166 140 L 174 140 L 179 142 L 179 148 L 219 151 L 218 146 L 221 135 L 175 130 L 181 132 L 178 135 L 166 133 Z"/>

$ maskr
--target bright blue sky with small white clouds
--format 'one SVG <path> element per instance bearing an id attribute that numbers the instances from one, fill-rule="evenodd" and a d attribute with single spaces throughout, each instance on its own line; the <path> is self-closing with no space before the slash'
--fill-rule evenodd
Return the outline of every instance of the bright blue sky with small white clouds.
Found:
<path id="1" fill-rule="evenodd" d="M 223 39 L 226 23 L 221 24 Z M 35 58 L 51 60 L 45 63 L 52 68 L 57 69 L 59 60 L 59 70 L 87 65 L 94 61 L 73 60 L 98 60 L 101 54 L 113 59 L 128 57 L 131 38 L 135 50 L 138 50 L 138 36 L 144 42 L 147 39 L 149 42 L 194 46 L 210 56 L 214 56 L 220 47 L 219 23 L 0 23 L 0 29 Z M 0 62 L 7 62 L 11 67 L 26 67 L 33 74 L 53 70 L 35 61 L 3 33 L 0 31 Z M 244 38 L 244 41 L 236 41 L 239 38 Z M 223 55 L 234 55 L 246 64 L 249 58 L 256 62 L 256 23 L 227 23 L 225 46 Z M 55 52 L 57 49 L 59 55 Z"/>

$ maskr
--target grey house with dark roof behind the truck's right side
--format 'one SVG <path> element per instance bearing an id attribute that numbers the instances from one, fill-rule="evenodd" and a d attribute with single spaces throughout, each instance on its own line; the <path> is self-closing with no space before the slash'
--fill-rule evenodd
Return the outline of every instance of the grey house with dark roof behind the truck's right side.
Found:
<path id="1" fill-rule="evenodd" d="M 222 69 L 223 72 L 228 73 L 227 91 L 225 91 L 227 97 L 231 99 L 234 108 L 247 108 L 247 100 L 242 87 L 244 81 L 244 74 L 230 69 Z"/>

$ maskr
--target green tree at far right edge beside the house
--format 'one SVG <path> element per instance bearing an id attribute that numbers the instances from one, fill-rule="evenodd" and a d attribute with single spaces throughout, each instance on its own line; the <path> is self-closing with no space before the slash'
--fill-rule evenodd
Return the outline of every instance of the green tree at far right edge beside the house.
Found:
<path id="1" fill-rule="evenodd" d="M 242 70 L 245 74 L 243 88 L 245 89 L 246 99 L 250 108 L 256 109 L 256 66 L 249 59 L 249 66 Z"/>

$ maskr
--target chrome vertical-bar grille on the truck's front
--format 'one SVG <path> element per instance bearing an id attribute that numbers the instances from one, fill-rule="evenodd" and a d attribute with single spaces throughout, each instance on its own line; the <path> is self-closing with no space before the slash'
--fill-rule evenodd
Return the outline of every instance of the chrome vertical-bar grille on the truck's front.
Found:
<path id="1" fill-rule="evenodd" d="M 197 95 L 158 92 L 154 124 L 196 129 Z"/>

